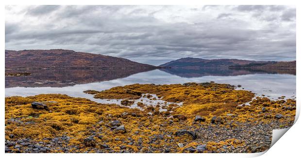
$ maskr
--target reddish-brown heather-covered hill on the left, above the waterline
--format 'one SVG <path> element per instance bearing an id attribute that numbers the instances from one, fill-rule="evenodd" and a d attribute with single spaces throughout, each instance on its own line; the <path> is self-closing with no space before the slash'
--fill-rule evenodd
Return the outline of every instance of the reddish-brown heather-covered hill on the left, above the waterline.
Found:
<path id="1" fill-rule="evenodd" d="M 5 68 L 156 69 L 121 57 L 72 50 L 5 50 Z"/>

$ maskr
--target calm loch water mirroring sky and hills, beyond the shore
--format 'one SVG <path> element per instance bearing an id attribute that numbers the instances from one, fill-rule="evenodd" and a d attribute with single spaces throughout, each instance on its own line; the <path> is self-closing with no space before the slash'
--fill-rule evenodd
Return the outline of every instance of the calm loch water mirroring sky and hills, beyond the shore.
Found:
<path id="1" fill-rule="evenodd" d="M 30 71 L 30 70 L 27 70 Z M 210 82 L 241 85 L 257 95 L 271 99 L 280 96 L 295 98 L 296 74 L 283 71 L 249 70 L 32 70 L 34 75 L 5 77 L 5 96 L 32 96 L 60 93 L 83 97 L 94 101 L 88 89 L 105 90 L 130 84 L 183 84 L 186 82 Z"/>

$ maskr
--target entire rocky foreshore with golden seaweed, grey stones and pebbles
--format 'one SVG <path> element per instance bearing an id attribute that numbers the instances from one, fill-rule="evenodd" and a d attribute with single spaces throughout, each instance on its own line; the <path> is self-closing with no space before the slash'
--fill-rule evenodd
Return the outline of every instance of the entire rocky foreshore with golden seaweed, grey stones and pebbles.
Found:
<path id="1" fill-rule="evenodd" d="M 86 92 L 129 102 L 148 93 L 183 105 L 129 108 L 62 94 L 6 97 L 5 152 L 262 152 L 270 146 L 272 130 L 291 126 L 296 112 L 295 100 L 254 98 L 227 84 L 134 84 Z M 159 110 L 162 106 L 166 111 Z"/>

